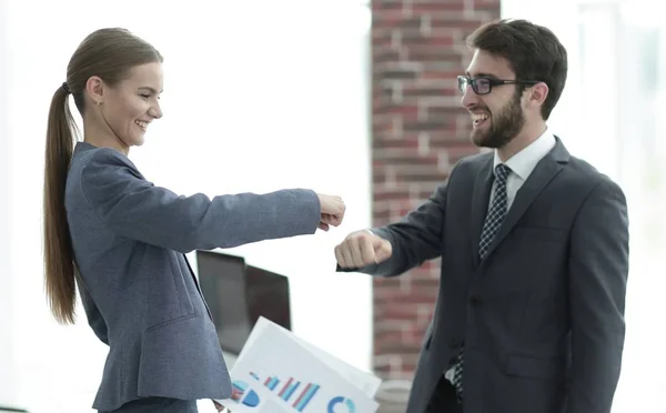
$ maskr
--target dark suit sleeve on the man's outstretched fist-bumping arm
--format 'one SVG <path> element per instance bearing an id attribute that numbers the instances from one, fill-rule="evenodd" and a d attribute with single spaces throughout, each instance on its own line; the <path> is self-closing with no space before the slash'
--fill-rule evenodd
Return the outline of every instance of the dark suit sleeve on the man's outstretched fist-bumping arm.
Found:
<path id="1" fill-rule="evenodd" d="M 342 269 L 337 265 L 336 271 L 394 276 L 440 256 L 446 193 L 447 183 L 444 183 L 433 192 L 428 200 L 411 211 L 400 222 L 371 230 L 375 235 L 391 242 L 393 254 L 389 260 L 362 269 Z"/>

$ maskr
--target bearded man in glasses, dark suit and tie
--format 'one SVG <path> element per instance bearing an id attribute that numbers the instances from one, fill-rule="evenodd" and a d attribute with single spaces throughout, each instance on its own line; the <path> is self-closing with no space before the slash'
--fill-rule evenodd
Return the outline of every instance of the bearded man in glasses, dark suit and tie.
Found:
<path id="1" fill-rule="evenodd" d="M 625 336 L 625 197 L 546 127 L 567 73 L 548 29 L 491 22 L 468 46 L 462 104 L 473 142 L 494 151 L 461 160 L 401 222 L 351 233 L 339 271 L 393 276 L 442 258 L 407 413 L 608 413 Z"/>

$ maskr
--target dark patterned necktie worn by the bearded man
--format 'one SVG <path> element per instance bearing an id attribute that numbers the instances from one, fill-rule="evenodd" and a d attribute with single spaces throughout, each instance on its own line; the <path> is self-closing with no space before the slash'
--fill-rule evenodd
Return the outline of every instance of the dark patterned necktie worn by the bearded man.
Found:
<path id="1" fill-rule="evenodd" d="M 506 178 L 511 170 L 504 163 L 495 167 L 495 189 L 493 191 L 493 202 L 483 224 L 481 232 L 481 242 L 478 243 L 478 256 L 484 260 L 488 252 L 488 246 L 493 242 L 497 230 L 502 226 L 502 221 L 506 216 L 507 199 L 506 199 Z M 464 350 L 461 345 L 457 362 L 453 373 L 453 385 L 460 400 L 463 400 L 463 367 L 465 364 Z"/>

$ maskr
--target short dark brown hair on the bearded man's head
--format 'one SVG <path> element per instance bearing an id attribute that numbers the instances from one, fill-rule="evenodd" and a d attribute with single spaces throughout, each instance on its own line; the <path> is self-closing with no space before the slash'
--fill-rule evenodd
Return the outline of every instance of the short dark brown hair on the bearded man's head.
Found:
<path id="1" fill-rule="evenodd" d="M 503 19 L 483 24 L 467 37 L 467 46 L 508 61 L 518 80 L 537 80 L 548 85 L 542 107 L 547 120 L 566 83 L 566 49 L 547 28 L 526 20 Z M 522 89 L 525 85 L 519 85 Z"/>

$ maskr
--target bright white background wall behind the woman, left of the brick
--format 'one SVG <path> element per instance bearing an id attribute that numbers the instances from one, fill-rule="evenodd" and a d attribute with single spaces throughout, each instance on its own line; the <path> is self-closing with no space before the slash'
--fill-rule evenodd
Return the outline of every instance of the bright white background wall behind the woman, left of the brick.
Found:
<path id="1" fill-rule="evenodd" d="M 0 94 L 0 131 L 9 133 L 0 134 L 0 160 L 9 169 L 0 169 L 0 193 L 8 194 L 9 213 L 0 213 L 0 225 L 9 221 L 11 236 L 0 232 L 0 254 L 12 261 L 0 259 L 0 329 L 9 338 L 0 343 L 0 397 L 13 395 L 31 412 L 85 412 L 99 383 L 105 346 L 84 318 L 63 328 L 46 305 L 41 184 L 50 99 L 75 47 L 101 27 L 129 28 L 165 56 L 164 118 L 130 155 L 150 180 L 183 194 L 300 187 L 344 197 L 346 220 L 330 233 L 231 252 L 290 276 L 296 334 L 370 369 L 371 281 L 334 273 L 333 256 L 346 233 L 370 225 L 370 17 L 359 2 L 4 4 L 0 44 L 8 44 L 9 56 L 0 48 L 0 58 L 9 64 L 0 82 L 10 88 Z M 8 377 L 12 360 L 17 367 Z"/>

